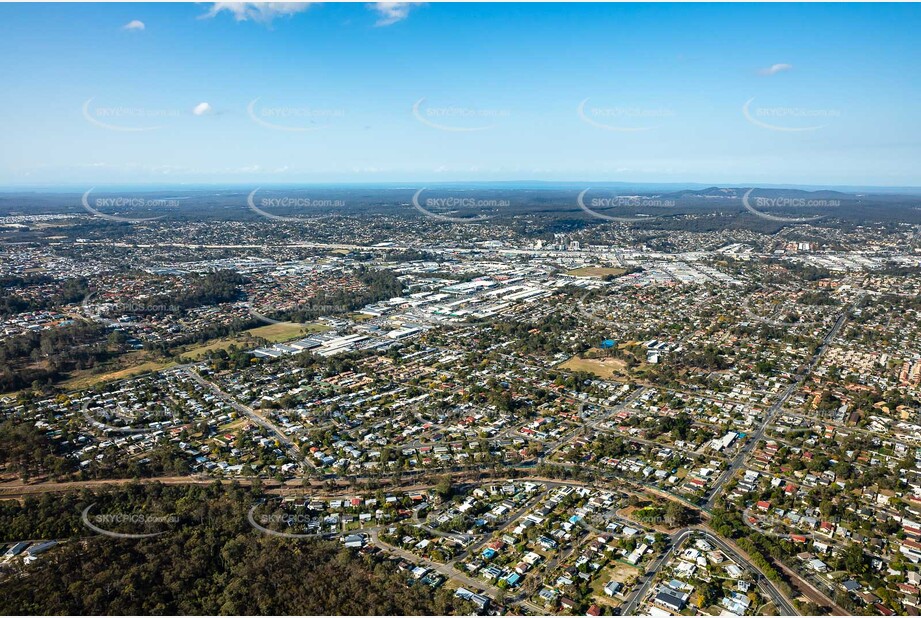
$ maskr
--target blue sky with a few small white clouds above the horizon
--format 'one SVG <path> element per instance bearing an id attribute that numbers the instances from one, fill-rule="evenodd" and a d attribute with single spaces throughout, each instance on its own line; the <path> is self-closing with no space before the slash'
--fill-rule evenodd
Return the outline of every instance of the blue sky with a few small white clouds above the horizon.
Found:
<path id="1" fill-rule="evenodd" d="M 911 4 L 2 4 L 0 185 L 921 186 L 919 31 Z"/>

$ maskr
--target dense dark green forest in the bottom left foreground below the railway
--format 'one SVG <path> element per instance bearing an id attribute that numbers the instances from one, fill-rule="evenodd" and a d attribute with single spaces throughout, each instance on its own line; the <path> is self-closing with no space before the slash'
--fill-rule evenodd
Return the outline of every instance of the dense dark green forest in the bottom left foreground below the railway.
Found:
<path id="1" fill-rule="evenodd" d="M 130 484 L 23 503 L 0 502 L 0 535 L 65 540 L 0 573 L 0 613 L 42 615 L 469 614 L 445 589 L 416 583 L 389 558 L 335 541 L 281 539 L 251 528 L 261 489 Z M 83 509 L 145 514 L 157 536 L 116 539 L 83 526 Z M 137 532 L 136 521 L 119 526 Z M 124 529 L 122 529 L 124 528 Z"/>

